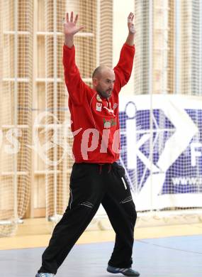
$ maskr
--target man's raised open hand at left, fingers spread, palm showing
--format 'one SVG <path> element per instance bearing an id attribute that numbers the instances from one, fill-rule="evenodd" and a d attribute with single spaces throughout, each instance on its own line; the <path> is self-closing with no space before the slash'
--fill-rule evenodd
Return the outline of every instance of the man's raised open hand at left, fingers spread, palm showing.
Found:
<path id="1" fill-rule="evenodd" d="M 64 35 L 65 36 L 74 36 L 75 33 L 81 31 L 84 26 L 77 27 L 77 20 L 79 15 L 77 14 L 74 18 L 73 11 L 71 12 L 70 21 L 69 21 L 69 13 L 66 14 L 66 22 L 64 22 Z"/>

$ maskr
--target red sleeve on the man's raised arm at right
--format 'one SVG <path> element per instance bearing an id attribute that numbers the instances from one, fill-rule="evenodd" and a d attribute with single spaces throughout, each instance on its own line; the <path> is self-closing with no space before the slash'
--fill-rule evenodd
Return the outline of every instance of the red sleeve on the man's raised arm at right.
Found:
<path id="1" fill-rule="evenodd" d="M 121 87 L 127 84 L 130 79 L 130 75 L 133 70 L 134 55 L 135 45 L 130 46 L 125 43 L 120 50 L 118 64 L 113 68 L 116 75 L 114 89 L 116 89 L 118 92 L 120 92 Z"/>

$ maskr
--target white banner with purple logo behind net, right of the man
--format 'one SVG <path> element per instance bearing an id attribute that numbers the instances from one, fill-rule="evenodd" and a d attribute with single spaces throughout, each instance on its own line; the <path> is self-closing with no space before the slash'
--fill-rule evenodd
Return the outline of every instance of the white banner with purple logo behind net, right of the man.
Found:
<path id="1" fill-rule="evenodd" d="M 119 110 L 136 209 L 202 207 L 202 97 L 121 94 Z"/>

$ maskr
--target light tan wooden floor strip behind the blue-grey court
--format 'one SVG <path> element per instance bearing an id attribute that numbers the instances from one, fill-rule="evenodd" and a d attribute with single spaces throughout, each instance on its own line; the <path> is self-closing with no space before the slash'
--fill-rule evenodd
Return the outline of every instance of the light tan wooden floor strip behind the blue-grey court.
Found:
<path id="1" fill-rule="evenodd" d="M 23 249 L 33 247 L 45 247 L 50 240 L 53 228 L 52 222 L 44 218 L 25 219 L 18 226 L 14 237 L 1 237 L 0 249 Z M 180 224 L 158 227 L 136 227 L 135 239 L 151 239 L 159 237 L 188 236 L 202 234 L 202 222 L 193 224 Z M 94 243 L 101 241 L 113 241 L 115 234 L 113 230 L 94 231 L 89 230 L 82 234 L 78 244 Z"/>

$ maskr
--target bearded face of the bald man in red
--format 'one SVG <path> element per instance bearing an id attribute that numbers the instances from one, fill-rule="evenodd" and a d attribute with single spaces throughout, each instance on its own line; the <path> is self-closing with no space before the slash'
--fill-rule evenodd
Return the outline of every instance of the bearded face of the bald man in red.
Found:
<path id="1" fill-rule="evenodd" d="M 98 77 L 93 79 L 93 85 L 96 92 L 103 98 L 111 97 L 115 74 L 110 68 L 103 69 Z"/>

